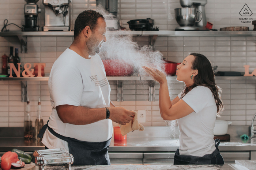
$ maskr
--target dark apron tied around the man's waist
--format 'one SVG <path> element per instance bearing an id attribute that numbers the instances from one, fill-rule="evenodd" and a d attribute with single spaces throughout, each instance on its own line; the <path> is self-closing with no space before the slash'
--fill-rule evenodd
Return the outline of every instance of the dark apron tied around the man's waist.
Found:
<path id="1" fill-rule="evenodd" d="M 72 165 L 110 165 L 108 148 L 111 138 L 105 142 L 79 141 L 74 138 L 64 137 L 57 134 L 48 126 L 48 122 L 42 127 L 42 130 L 38 134 L 38 138 L 42 138 L 48 128 L 50 133 L 54 136 L 68 142 L 69 153 L 74 157 L 74 163 Z"/>

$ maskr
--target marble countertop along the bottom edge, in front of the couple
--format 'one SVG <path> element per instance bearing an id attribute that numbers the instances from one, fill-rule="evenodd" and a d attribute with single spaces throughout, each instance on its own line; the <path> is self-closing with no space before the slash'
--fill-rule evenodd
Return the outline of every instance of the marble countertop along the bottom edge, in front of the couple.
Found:
<path id="1" fill-rule="evenodd" d="M 38 170 L 38 166 L 35 168 Z M 45 170 L 64 170 L 64 166 L 45 166 Z M 235 165 L 110 165 L 71 166 L 72 170 L 238 170 Z"/>

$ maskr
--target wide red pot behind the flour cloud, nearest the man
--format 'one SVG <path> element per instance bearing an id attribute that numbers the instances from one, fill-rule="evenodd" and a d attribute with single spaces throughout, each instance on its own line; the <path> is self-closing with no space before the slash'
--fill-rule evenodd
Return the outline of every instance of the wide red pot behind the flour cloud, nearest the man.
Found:
<path id="1" fill-rule="evenodd" d="M 102 60 L 106 76 L 131 76 L 133 66 L 123 60 Z"/>

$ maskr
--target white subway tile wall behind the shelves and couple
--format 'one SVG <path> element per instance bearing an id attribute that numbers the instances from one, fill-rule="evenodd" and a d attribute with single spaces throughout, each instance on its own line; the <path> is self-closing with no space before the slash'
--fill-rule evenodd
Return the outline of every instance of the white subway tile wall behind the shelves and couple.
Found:
<path id="1" fill-rule="evenodd" d="M 242 24 L 239 18 L 240 10 L 247 4 L 253 13 L 256 12 L 255 0 L 208 0 L 206 4 L 207 21 L 214 29 L 229 26 L 247 26 L 253 29 L 251 23 Z M 21 26 L 24 20 L 24 0 L 2 0 L 0 2 L 0 28 L 4 19 L 8 23 Z M 39 14 L 39 25 L 44 26 L 44 5 L 42 0 L 37 3 L 42 9 Z M 74 29 L 78 14 L 86 9 L 95 8 L 95 0 L 72 0 L 71 29 Z M 174 17 L 174 8 L 180 8 L 179 0 L 118 0 L 118 18 L 124 20 L 124 27 L 131 19 L 155 19 L 159 29 L 174 30 L 178 24 Z M 252 15 L 253 18 L 253 15 Z M 253 20 L 256 20 L 253 18 Z M 19 28 L 10 25 L 7 29 L 18 31 Z M 72 37 L 28 37 L 27 54 L 19 54 L 22 63 L 46 63 L 45 72 L 49 73 L 54 61 L 72 43 Z M 148 45 L 148 37 L 133 37 L 140 46 Z M 0 55 L 9 54 L 9 47 L 19 48 L 17 37 L 0 37 Z M 256 37 L 158 37 L 155 49 L 162 52 L 166 60 L 181 62 L 190 52 L 206 55 L 217 71 L 241 71 L 248 64 L 252 72 L 256 68 Z M 0 61 L 0 65 L 1 65 Z M 146 110 L 144 126 L 166 126 L 159 113 L 159 84 L 155 86 L 155 102 L 148 102 L 148 82 L 124 81 L 124 102 L 116 102 L 116 81 L 110 81 L 112 89 L 110 99 L 116 106 L 129 110 Z M 256 81 L 255 80 L 217 80 L 223 89 L 222 99 L 225 111 L 221 118 L 231 120 L 231 125 L 250 125 L 256 112 Z M 174 99 L 183 88 L 183 83 L 170 82 L 170 98 Z M 48 82 L 28 82 L 28 95 L 31 103 L 33 120 L 37 115 L 37 102 L 41 97 L 42 116 L 46 123 L 51 114 L 52 106 L 49 100 Z M 19 81 L 0 81 L 0 127 L 23 126 L 26 103 L 21 102 L 21 87 Z M 114 123 L 114 125 L 116 125 Z"/>

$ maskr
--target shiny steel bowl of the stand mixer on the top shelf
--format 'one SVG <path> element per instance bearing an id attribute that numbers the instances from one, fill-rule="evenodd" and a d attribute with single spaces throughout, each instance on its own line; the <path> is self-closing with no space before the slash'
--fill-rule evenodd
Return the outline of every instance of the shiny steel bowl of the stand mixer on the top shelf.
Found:
<path id="1" fill-rule="evenodd" d="M 181 27 L 192 27 L 195 25 L 195 8 L 176 8 L 174 9 L 175 19 Z"/>

